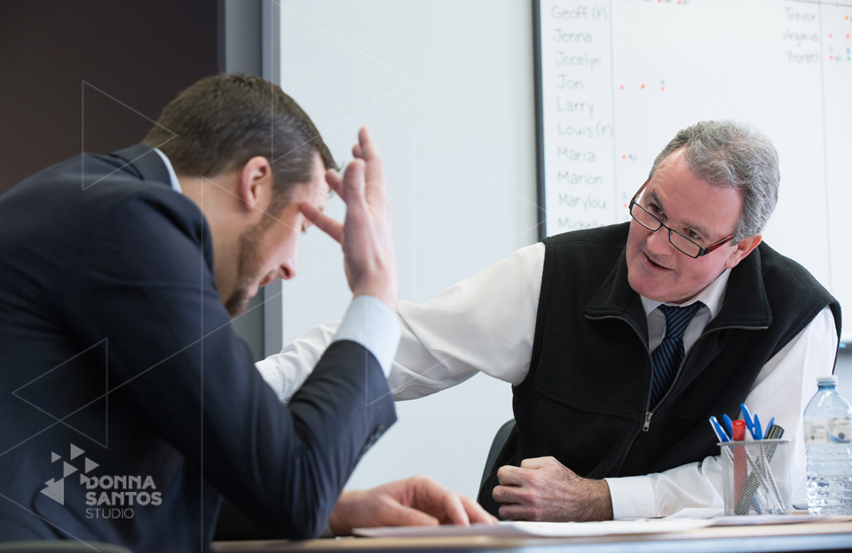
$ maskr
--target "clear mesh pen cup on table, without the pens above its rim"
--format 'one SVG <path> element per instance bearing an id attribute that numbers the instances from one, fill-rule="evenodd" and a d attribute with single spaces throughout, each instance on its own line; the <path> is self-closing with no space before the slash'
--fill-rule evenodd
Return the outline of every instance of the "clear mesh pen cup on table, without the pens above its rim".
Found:
<path id="1" fill-rule="evenodd" d="M 729 441 L 719 445 L 726 515 L 783 515 L 793 510 L 790 440 Z"/>

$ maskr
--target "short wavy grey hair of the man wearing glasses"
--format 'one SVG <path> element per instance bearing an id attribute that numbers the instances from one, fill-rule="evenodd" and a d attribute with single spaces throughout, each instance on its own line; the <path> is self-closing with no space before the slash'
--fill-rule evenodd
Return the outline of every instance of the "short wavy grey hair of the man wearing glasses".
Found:
<path id="1" fill-rule="evenodd" d="M 659 152 L 652 177 L 662 160 L 683 148 L 692 175 L 714 186 L 743 192 L 743 211 L 734 242 L 760 234 L 778 203 L 778 152 L 769 138 L 746 123 L 701 121 L 682 129 Z"/>

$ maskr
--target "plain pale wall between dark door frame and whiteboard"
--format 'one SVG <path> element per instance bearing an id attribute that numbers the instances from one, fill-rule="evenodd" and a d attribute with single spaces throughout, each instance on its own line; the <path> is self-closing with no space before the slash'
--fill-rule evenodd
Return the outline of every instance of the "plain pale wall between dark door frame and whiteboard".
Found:
<path id="1" fill-rule="evenodd" d="M 399 300 L 429 300 L 537 241 L 531 0 L 270 4 L 270 74 L 335 160 L 351 160 L 361 125 L 382 152 Z M 326 213 L 342 221 L 343 201 Z M 279 343 L 340 320 L 352 297 L 340 245 L 308 229 L 298 276 L 266 297 Z M 346 486 L 429 474 L 476 497 L 494 433 L 512 417 L 511 385 L 483 374 L 396 409 Z"/>

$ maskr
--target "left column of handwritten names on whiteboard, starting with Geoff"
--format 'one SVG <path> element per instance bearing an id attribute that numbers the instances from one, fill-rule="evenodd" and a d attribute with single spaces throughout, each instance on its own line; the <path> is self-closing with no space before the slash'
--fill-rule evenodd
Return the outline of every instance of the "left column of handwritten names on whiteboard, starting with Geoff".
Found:
<path id="1" fill-rule="evenodd" d="M 548 236 L 614 222 L 609 2 L 541 2 Z"/>

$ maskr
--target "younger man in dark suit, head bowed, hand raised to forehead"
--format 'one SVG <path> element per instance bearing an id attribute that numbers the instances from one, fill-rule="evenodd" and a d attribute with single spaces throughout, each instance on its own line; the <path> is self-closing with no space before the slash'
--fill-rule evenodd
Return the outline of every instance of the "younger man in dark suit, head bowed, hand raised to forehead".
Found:
<path id="1" fill-rule="evenodd" d="M 366 129 L 354 153 L 338 175 L 278 87 L 218 75 L 143 144 L 82 154 L 0 198 L 0 541 L 206 549 L 221 495 L 288 538 L 329 518 L 338 533 L 490 519 L 429 479 L 341 496 L 396 420 L 397 275 Z M 343 225 L 320 213 L 329 185 Z M 230 319 L 296 276 L 311 222 L 343 245 L 354 299 L 285 407 Z"/>

